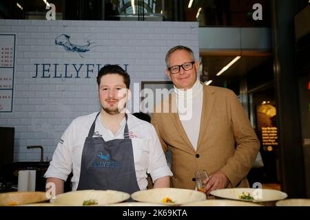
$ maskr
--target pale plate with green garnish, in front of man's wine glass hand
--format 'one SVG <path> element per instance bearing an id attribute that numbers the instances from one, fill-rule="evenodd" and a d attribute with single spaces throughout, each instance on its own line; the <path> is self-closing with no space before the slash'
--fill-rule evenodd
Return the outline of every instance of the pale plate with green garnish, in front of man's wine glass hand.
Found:
<path id="1" fill-rule="evenodd" d="M 254 197 L 254 200 L 240 199 L 242 192 L 249 193 L 251 197 Z M 224 199 L 254 202 L 278 201 L 287 197 L 285 192 L 261 188 L 224 188 L 211 191 L 210 194 Z"/>

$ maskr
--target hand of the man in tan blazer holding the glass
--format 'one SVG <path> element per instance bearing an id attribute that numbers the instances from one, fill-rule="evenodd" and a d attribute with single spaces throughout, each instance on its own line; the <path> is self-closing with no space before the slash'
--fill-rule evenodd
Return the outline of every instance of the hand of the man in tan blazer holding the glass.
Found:
<path id="1" fill-rule="evenodd" d="M 205 193 L 209 195 L 212 190 L 226 188 L 228 184 L 229 184 L 228 177 L 224 173 L 222 173 L 220 170 L 218 170 L 210 175 L 208 184 L 205 187 Z"/>

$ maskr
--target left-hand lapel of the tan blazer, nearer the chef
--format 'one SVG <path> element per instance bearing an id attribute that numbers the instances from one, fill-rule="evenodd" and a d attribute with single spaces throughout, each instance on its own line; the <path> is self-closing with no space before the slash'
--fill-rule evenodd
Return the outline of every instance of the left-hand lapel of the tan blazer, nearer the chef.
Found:
<path id="1" fill-rule="evenodd" d="M 172 101 L 173 100 L 173 101 Z M 180 118 L 178 117 L 178 112 L 176 108 L 176 94 L 172 94 L 169 98 L 169 106 L 172 107 L 172 112 L 169 112 L 169 114 L 172 115 L 172 122 L 174 123 L 174 126 L 176 127 L 176 131 L 180 134 L 180 136 L 183 138 L 187 146 L 190 146 L 192 148 L 192 151 L 194 151 L 194 147 L 192 146 L 192 143 L 189 141 L 187 134 L 184 130 L 182 122 L 180 122 Z"/>

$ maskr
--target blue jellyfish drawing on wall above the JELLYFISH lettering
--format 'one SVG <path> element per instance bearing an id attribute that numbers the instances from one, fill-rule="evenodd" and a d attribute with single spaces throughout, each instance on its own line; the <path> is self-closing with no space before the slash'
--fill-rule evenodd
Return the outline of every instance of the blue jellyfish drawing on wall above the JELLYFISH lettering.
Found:
<path id="1" fill-rule="evenodd" d="M 76 52 L 79 54 L 79 56 L 83 57 L 83 54 L 90 51 L 91 45 L 94 43 L 90 43 L 90 41 L 86 41 L 86 45 L 76 45 L 74 43 L 71 43 L 70 36 L 68 34 L 61 34 L 56 37 L 55 44 L 61 45 L 63 48 L 65 48 L 65 51 L 67 52 Z"/>

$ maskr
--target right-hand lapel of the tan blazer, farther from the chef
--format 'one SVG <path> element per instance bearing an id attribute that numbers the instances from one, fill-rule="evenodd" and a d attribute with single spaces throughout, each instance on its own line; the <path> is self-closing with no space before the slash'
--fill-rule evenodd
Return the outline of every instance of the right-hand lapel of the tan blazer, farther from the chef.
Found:
<path id="1" fill-rule="evenodd" d="M 215 102 L 214 92 L 215 91 L 211 87 L 203 85 L 203 110 L 201 111 L 197 151 L 199 146 L 202 144 L 203 136 L 205 135 L 207 125 L 209 124 L 209 120 L 211 118 L 211 113 Z"/>

